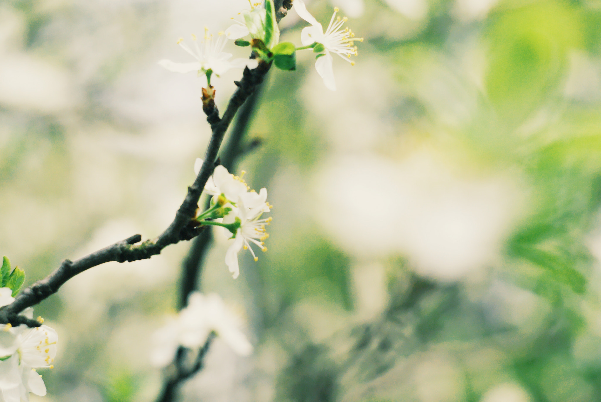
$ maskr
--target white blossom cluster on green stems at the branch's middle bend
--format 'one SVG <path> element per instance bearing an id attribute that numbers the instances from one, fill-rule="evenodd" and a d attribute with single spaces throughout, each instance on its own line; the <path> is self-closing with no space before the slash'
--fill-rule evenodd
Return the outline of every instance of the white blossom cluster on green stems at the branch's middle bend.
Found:
<path id="1" fill-rule="evenodd" d="M 198 158 L 194 164 L 196 174 L 202 164 L 203 160 Z M 242 177 L 234 176 L 224 166 L 219 165 L 209 177 L 204 190 L 213 198 L 209 209 L 198 215 L 197 220 L 203 225 L 225 228 L 230 238 L 225 264 L 236 279 L 240 275 L 238 253 L 241 249 L 248 249 L 255 261 L 258 257 L 251 244 L 263 252 L 267 251 L 264 240 L 269 234 L 266 233 L 265 226 L 269 225 L 272 219 L 261 219 L 261 215 L 273 207 L 267 202 L 267 189 L 263 187 L 257 193 L 248 187 Z"/>

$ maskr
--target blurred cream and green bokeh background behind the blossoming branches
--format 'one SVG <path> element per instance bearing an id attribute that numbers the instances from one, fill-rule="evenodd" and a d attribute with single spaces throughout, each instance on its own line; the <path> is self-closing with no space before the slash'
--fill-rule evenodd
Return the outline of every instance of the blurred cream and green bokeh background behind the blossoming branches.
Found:
<path id="1" fill-rule="evenodd" d="M 334 1 L 334 0 L 332 0 Z M 601 400 L 601 1 L 337 0 L 358 36 L 328 91 L 273 69 L 237 160 L 275 205 L 269 252 L 225 237 L 198 286 L 245 317 L 182 401 Z M 179 37 L 242 0 L 0 0 L 0 254 L 26 284 L 171 222 L 210 130 Z M 294 11 L 282 40 L 300 46 Z M 228 51 L 248 56 L 230 43 Z M 214 85 L 225 109 L 240 71 Z M 36 308 L 48 395 L 153 401 L 152 334 L 189 242 L 105 264 Z"/>

